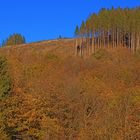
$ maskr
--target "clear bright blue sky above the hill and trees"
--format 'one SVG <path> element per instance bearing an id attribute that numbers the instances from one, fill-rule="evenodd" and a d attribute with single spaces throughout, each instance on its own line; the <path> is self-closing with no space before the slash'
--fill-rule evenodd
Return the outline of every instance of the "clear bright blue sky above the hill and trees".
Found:
<path id="1" fill-rule="evenodd" d="M 0 42 L 15 32 L 27 42 L 73 37 L 82 20 L 112 6 L 136 7 L 140 0 L 0 0 Z"/>

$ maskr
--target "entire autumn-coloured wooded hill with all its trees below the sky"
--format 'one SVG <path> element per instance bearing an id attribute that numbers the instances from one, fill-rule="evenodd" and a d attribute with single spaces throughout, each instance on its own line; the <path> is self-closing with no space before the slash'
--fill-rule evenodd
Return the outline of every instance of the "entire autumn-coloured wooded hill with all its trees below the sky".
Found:
<path id="1" fill-rule="evenodd" d="M 0 140 L 139 140 L 140 8 L 101 9 L 73 38 L 0 48 Z"/>

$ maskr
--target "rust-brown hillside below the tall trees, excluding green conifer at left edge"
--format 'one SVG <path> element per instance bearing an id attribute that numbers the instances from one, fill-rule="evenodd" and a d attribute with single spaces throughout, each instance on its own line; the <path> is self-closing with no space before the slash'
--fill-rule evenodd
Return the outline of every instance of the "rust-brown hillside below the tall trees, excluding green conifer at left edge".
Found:
<path id="1" fill-rule="evenodd" d="M 11 79 L 0 99 L 2 140 L 140 138 L 139 51 L 100 48 L 83 59 L 74 46 L 62 39 L 0 49 Z"/>

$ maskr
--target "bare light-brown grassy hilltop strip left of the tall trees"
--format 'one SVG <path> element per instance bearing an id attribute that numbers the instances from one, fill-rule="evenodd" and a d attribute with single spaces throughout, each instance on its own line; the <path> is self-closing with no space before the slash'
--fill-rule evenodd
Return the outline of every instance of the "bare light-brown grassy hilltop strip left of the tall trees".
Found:
<path id="1" fill-rule="evenodd" d="M 28 51 L 44 51 L 44 52 L 57 51 L 58 53 L 59 52 L 61 53 L 62 49 L 64 52 L 69 51 L 69 49 L 74 47 L 74 45 L 75 45 L 74 39 L 56 39 L 56 40 L 39 41 L 39 42 L 33 42 L 33 43 L 21 44 L 21 45 L 5 46 L 4 48 L 1 49 L 1 52 L 17 50 L 17 53 L 19 53 L 20 51 L 24 52 L 26 50 L 26 53 L 28 53 Z"/>

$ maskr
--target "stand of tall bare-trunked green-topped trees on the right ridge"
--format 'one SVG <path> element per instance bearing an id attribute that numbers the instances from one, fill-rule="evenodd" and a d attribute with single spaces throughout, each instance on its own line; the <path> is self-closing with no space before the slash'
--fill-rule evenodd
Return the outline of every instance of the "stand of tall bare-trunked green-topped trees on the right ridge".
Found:
<path id="1" fill-rule="evenodd" d="M 136 51 L 140 47 L 140 7 L 101 9 L 76 27 L 75 36 L 76 44 L 86 42 L 89 52 L 101 46 L 126 46 Z"/>

